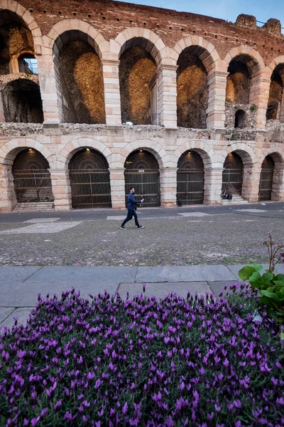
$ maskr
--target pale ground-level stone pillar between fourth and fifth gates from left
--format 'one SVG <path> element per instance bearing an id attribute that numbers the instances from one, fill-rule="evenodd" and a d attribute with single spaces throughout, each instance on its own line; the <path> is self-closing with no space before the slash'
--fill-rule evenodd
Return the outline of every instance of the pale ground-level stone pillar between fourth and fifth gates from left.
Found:
<path id="1" fill-rule="evenodd" d="M 204 170 L 204 204 L 221 204 L 223 167 Z"/>

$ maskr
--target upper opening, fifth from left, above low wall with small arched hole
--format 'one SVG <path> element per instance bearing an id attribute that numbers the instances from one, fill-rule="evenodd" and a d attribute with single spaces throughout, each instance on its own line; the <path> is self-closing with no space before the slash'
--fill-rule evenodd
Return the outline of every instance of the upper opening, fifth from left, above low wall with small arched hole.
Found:
<path id="1" fill-rule="evenodd" d="M 251 75 L 249 63 L 251 57 L 241 54 L 229 63 L 226 84 L 226 102 L 249 104 Z"/>

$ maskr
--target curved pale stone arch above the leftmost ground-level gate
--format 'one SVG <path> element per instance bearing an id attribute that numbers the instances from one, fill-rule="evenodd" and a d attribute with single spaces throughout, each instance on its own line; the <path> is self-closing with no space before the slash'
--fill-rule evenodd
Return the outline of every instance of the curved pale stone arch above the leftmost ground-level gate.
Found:
<path id="1" fill-rule="evenodd" d="M 0 148 L 0 163 L 11 166 L 16 155 L 26 148 L 36 149 L 48 160 L 50 167 L 52 167 L 51 164 L 54 162 L 53 153 L 45 145 L 31 138 L 15 138 L 2 145 Z"/>

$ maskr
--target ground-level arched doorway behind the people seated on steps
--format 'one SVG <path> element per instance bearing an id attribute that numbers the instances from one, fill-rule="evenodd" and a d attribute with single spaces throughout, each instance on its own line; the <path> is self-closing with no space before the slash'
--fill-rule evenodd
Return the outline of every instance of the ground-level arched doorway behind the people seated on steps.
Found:
<path id="1" fill-rule="evenodd" d="M 222 191 L 240 194 L 243 186 L 244 164 L 239 154 L 229 153 L 224 162 Z"/>

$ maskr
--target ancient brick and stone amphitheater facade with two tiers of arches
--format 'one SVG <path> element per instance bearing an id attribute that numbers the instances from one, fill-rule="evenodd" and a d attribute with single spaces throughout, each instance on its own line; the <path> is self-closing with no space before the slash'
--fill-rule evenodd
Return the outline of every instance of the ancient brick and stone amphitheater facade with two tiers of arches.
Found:
<path id="1" fill-rule="evenodd" d="M 259 27 L 253 16 L 231 23 L 108 0 L 0 0 L 0 39 L 1 212 L 17 209 L 15 176 L 36 169 L 24 160 L 33 154 L 45 160 L 53 209 L 72 209 L 70 162 L 86 150 L 106 161 L 114 209 L 125 206 L 125 170 L 138 152 L 158 165 L 155 206 L 177 205 L 187 154 L 202 161 L 185 167 L 203 169 L 204 204 L 221 203 L 230 156 L 244 200 L 260 199 L 267 162 L 267 198 L 284 200 L 277 19 Z M 22 58 L 35 58 L 38 73 Z"/>

